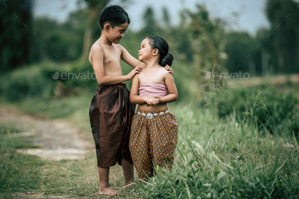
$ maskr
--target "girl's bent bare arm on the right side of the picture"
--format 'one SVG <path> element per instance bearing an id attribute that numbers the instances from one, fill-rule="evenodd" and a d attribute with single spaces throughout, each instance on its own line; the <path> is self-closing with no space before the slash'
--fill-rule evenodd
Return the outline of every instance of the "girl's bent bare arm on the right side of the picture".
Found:
<path id="1" fill-rule="evenodd" d="M 173 102 L 177 99 L 177 89 L 176 89 L 176 86 L 174 83 L 174 78 L 168 72 L 165 72 L 165 85 L 168 90 L 168 95 L 166 95 L 162 98 L 159 98 L 160 99 L 159 104 L 167 104 L 167 103 Z"/>

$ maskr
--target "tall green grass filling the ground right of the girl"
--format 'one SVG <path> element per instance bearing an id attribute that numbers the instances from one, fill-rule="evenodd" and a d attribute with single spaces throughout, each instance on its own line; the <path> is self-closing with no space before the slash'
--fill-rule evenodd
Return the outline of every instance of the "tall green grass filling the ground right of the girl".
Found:
<path id="1" fill-rule="evenodd" d="M 173 169 L 156 168 L 156 176 L 138 184 L 141 198 L 299 197 L 298 146 L 288 145 L 293 139 L 263 136 L 266 130 L 238 124 L 236 115 L 218 120 L 209 109 L 173 112 L 180 124 Z"/>

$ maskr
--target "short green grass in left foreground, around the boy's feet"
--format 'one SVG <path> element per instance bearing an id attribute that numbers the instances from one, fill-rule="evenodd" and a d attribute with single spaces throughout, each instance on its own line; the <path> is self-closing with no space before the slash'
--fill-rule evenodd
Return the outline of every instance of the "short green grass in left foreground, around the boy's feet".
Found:
<path id="1" fill-rule="evenodd" d="M 1 125 L 2 157 L 0 158 L 0 197 L 12 198 L 13 194 L 31 192 L 45 195 L 73 195 L 96 197 L 99 184 L 96 156 L 87 155 L 84 160 L 44 161 L 38 156 L 16 153 L 17 148 L 31 148 L 33 145 L 24 142 L 26 132 L 17 130 L 14 138 L 14 127 Z M 14 138 L 14 139 L 13 139 Z M 13 140 L 13 141 L 9 141 Z M 20 144 L 23 143 L 23 144 Z M 4 145 L 5 144 L 5 145 Z M 111 186 L 121 187 L 124 177 L 120 177 L 121 167 L 111 168 Z M 86 187 L 86 188 L 84 188 Z M 118 189 L 119 190 L 119 189 Z M 122 191 L 119 198 L 133 197 L 136 190 Z"/>

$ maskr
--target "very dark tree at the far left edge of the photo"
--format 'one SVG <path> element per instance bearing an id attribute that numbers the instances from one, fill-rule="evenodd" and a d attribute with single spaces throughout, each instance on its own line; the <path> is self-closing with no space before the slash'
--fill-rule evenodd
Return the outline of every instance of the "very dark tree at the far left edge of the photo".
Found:
<path id="1" fill-rule="evenodd" d="M 0 70 L 8 71 L 28 63 L 31 37 L 31 0 L 1 1 Z"/>

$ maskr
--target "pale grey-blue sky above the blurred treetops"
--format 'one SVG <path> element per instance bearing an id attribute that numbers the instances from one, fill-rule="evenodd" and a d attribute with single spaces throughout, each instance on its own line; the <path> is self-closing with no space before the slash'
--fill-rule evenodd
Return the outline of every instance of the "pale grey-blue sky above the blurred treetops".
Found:
<path id="1" fill-rule="evenodd" d="M 78 0 L 34 0 L 33 16 L 47 16 L 63 22 L 67 19 L 70 12 L 79 9 Z M 296 0 L 298 2 L 299 0 Z M 121 3 L 120 0 L 112 0 L 110 4 L 122 6 L 128 13 L 131 23 L 129 28 L 137 31 L 142 28 L 142 16 L 145 7 L 152 7 L 157 21 L 162 18 L 164 13 L 162 8 L 166 7 L 169 12 L 170 23 L 179 23 L 179 11 L 188 8 L 196 11 L 197 3 L 204 4 L 211 18 L 220 17 L 230 24 L 230 29 L 238 31 L 248 31 L 252 36 L 260 27 L 269 27 L 270 24 L 265 14 L 266 0 L 160 0 L 160 1 L 136 1 L 130 0 L 129 3 Z M 233 14 L 235 13 L 235 14 Z M 237 17 L 236 17 L 237 14 Z M 99 14 L 100 15 L 100 14 Z"/>

